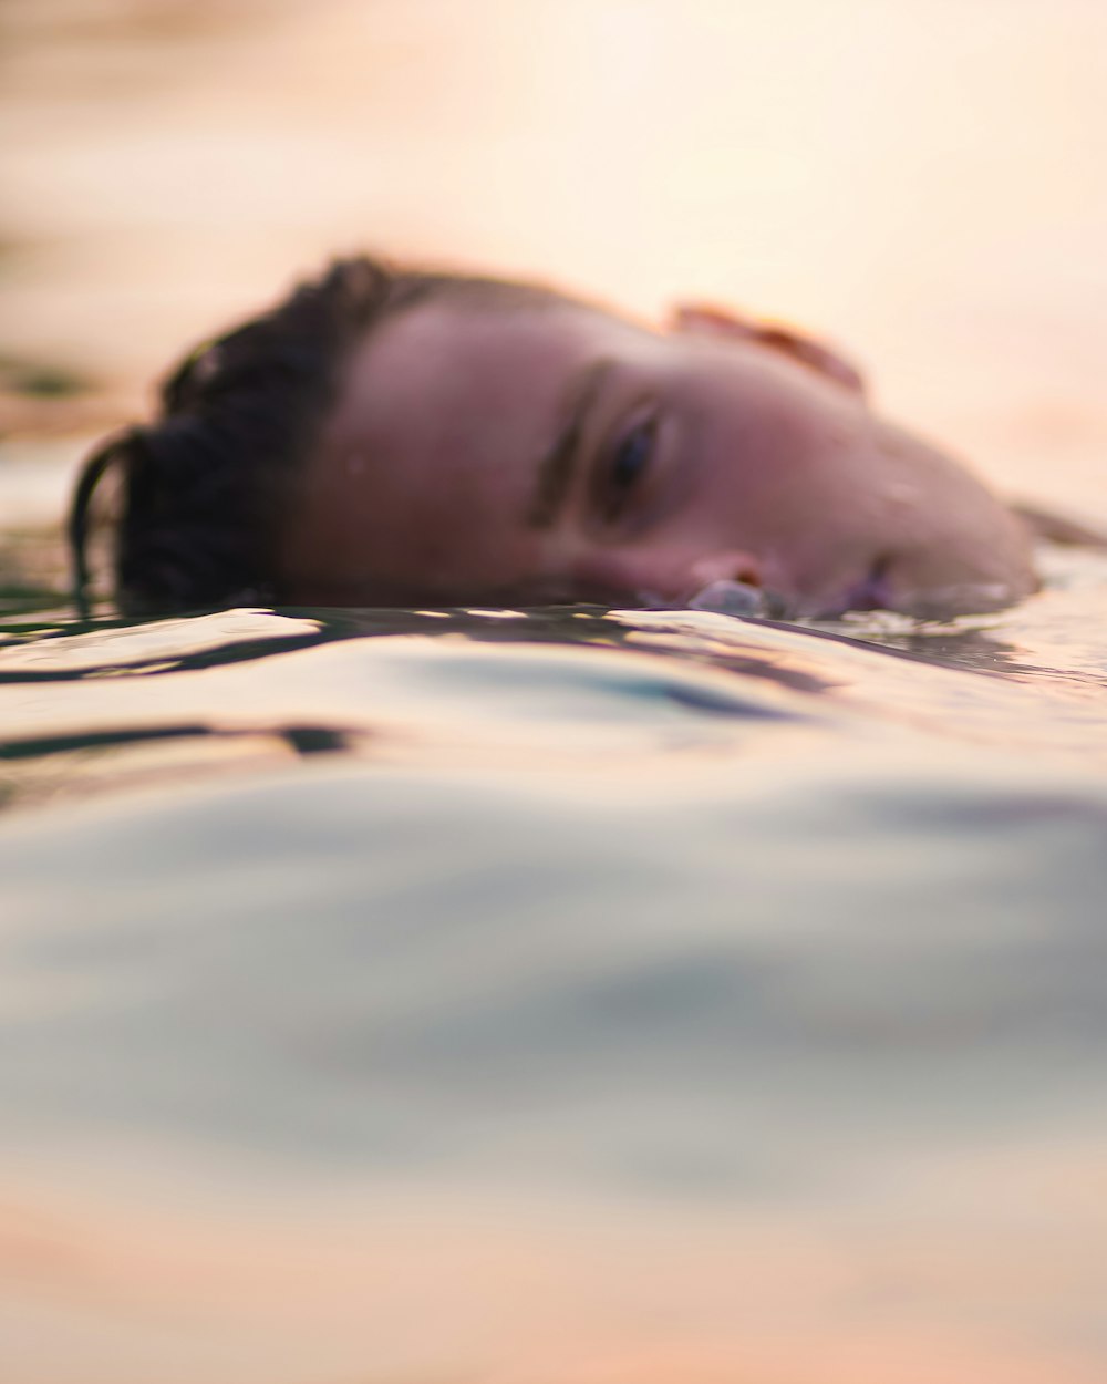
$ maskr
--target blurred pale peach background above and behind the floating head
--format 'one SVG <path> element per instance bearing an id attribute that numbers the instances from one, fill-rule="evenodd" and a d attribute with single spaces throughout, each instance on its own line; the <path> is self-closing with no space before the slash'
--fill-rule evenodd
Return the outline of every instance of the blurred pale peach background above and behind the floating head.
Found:
<path id="1" fill-rule="evenodd" d="M 335 251 L 844 343 L 1107 519 L 1101 0 L 3 0 L 0 523 Z"/>

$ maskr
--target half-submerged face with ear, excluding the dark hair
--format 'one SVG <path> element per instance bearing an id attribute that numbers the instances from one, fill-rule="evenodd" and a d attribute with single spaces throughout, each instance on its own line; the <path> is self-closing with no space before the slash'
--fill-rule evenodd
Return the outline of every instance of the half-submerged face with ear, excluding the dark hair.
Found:
<path id="1" fill-rule="evenodd" d="M 682 605 L 736 581 L 794 616 L 935 614 L 1035 585 L 1010 512 L 843 361 L 704 311 L 400 311 L 354 353 L 288 513 L 281 585 L 304 603 Z"/>

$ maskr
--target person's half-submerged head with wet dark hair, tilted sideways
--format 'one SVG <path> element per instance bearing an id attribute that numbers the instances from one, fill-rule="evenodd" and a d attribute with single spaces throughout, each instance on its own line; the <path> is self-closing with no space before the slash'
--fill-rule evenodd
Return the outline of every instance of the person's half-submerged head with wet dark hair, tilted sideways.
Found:
<path id="1" fill-rule="evenodd" d="M 131 603 L 981 609 L 1034 587 L 1017 520 L 805 338 L 666 331 L 545 289 L 335 264 L 194 353 L 125 471 Z"/>

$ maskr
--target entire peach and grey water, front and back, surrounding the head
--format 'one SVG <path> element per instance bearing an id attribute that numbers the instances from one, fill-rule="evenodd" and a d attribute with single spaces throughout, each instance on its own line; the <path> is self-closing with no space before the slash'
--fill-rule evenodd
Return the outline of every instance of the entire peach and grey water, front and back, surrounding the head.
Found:
<path id="1" fill-rule="evenodd" d="M 32 531 L 361 245 L 808 324 L 1104 527 L 1101 0 L 0 37 L 0 1384 L 1101 1384 L 1103 556 L 944 627 L 129 624 Z"/>

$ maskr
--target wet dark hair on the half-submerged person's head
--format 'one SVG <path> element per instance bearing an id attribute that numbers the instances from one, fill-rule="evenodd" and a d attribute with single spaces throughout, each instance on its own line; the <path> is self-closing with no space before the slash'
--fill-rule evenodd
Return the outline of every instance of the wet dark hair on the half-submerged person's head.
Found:
<path id="1" fill-rule="evenodd" d="M 277 603 L 277 545 L 298 466 L 365 334 L 428 298 L 554 300 L 529 284 L 332 262 L 270 311 L 191 352 L 161 388 L 152 422 L 84 464 L 69 512 L 77 598 L 89 585 L 93 497 L 120 480 L 113 585 L 129 613 Z"/>

